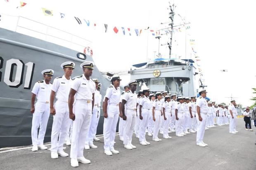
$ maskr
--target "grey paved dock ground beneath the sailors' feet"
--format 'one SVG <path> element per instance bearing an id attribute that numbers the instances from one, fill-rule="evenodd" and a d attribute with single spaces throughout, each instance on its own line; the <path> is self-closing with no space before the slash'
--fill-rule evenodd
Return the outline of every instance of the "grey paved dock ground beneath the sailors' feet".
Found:
<path id="1" fill-rule="evenodd" d="M 255 170 L 256 167 L 256 135 L 254 131 L 244 130 L 244 120 L 238 119 L 237 134 L 229 133 L 229 125 L 217 126 L 206 130 L 204 142 L 208 147 L 196 145 L 196 133 L 184 137 L 176 137 L 170 133 L 171 139 L 153 142 L 146 136 L 151 145 L 142 146 L 133 135 L 136 149 L 128 150 L 116 136 L 115 149 L 120 154 L 107 156 L 104 154 L 103 138 L 94 142 L 97 149 L 84 150 L 84 156 L 90 164 L 79 163 L 75 168 L 86 170 Z M 162 135 L 159 135 L 161 138 Z M 66 146 L 66 145 L 65 145 Z M 50 145 L 48 145 L 50 147 Z M 12 148 L 13 150 L 13 148 Z M 64 149 L 70 152 L 70 146 Z M 51 159 L 49 150 L 32 152 L 31 148 L 0 151 L 0 170 L 70 170 L 69 157 Z"/>

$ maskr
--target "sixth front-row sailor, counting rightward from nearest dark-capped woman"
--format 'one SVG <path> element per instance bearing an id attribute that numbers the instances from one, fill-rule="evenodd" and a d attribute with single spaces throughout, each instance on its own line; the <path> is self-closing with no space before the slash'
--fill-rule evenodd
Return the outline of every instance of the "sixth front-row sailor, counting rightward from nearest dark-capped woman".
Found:
<path id="1" fill-rule="evenodd" d="M 185 133 L 183 133 L 183 128 L 181 123 L 183 122 L 183 117 L 185 113 L 185 108 L 183 103 L 183 97 L 177 96 L 177 103 L 175 105 L 175 130 L 176 136 L 182 137 Z"/>

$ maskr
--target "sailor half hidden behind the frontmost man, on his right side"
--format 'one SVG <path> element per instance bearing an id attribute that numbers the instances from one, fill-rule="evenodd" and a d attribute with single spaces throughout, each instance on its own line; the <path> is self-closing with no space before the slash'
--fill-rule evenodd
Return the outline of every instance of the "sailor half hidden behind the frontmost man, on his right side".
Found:
<path id="1" fill-rule="evenodd" d="M 97 118 L 100 117 L 99 115 L 99 103 L 100 103 L 100 92 L 97 90 L 98 85 L 99 85 L 99 80 L 97 78 L 92 78 L 92 80 L 95 83 L 95 94 L 94 94 L 94 106 L 92 110 L 92 120 L 90 123 L 90 129 L 88 132 L 88 135 L 85 140 L 85 149 L 90 149 L 90 148 L 97 148 L 96 145 L 93 144 L 93 138 L 96 134 L 97 131 Z"/>

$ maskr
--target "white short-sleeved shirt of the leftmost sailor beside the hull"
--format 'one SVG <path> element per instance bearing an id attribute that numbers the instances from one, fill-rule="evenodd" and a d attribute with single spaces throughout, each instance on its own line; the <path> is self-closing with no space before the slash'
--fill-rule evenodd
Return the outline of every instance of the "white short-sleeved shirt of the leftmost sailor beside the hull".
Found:
<path id="1" fill-rule="evenodd" d="M 37 101 L 45 103 L 50 102 L 51 89 L 51 83 L 47 85 L 45 81 L 43 81 L 42 83 L 36 82 L 31 92 L 33 94 L 36 94 Z"/>

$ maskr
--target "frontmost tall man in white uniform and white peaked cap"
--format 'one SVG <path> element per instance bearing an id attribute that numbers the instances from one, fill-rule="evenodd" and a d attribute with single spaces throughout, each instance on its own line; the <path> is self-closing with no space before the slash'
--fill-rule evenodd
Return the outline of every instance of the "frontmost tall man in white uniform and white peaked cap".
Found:
<path id="1" fill-rule="evenodd" d="M 81 78 L 73 80 L 68 101 L 69 118 L 73 120 L 70 149 L 71 166 L 73 167 L 78 167 L 78 162 L 90 163 L 90 160 L 83 156 L 83 148 L 90 128 L 95 94 L 95 83 L 90 78 L 94 63 L 86 61 L 80 67 L 83 68 L 83 75 Z"/>

